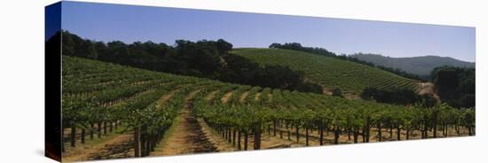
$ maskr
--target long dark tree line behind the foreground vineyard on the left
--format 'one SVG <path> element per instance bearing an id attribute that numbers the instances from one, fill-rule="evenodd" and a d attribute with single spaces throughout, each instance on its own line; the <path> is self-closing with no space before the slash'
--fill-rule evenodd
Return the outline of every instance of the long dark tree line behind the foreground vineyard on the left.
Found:
<path id="1" fill-rule="evenodd" d="M 229 53 L 232 43 L 223 39 L 198 42 L 177 40 L 173 46 L 153 42 L 104 43 L 83 39 L 69 31 L 59 31 L 47 41 L 46 48 L 57 48 L 61 37 L 62 55 L 65 56 L 222 82 L 322 93 L 322 87 L 318 84 L 304 82 L 303 72 L 287 66 L 259 66 L 248 58 Z"/>

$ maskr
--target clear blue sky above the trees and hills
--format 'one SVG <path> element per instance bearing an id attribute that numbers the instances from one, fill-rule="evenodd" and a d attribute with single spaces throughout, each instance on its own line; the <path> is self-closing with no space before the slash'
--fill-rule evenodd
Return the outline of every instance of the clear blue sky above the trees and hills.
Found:
<path id="1" fill-rule="evenodd" d="M 436 55 L 475 61 L 474 27 L 63 2 L 62 28 L 103 42 L 172 45 L 177 39 L 223 38 L 234 47 L 296 42 L 336 54 Z"/>

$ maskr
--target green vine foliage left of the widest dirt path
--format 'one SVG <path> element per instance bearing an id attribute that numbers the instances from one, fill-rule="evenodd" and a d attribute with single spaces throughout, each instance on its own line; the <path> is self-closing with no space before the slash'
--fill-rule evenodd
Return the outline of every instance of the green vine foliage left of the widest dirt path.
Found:
<path id="1" fill-rule="evenodd" d="M 83 58 L 63 57 L 62 62 L 65 128 L 90 129 L 90 124 L 122 121 L 127 129 L 140 128 L 142 135 L 156 136 L 169 128 L 185 94 L 193 89 L 185 85 L 197 82 Z M 166 105 L 158 105 L 161 96 L 175 88 L 181 91 Z"/>

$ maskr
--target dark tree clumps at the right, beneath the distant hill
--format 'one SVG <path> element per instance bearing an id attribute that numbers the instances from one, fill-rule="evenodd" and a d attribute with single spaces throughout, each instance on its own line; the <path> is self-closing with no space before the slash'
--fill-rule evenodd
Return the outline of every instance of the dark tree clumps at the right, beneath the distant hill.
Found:
<path id="1" fill-rule="evenodd" d="M 476 107 L 476 71 L 474 68 L 439 66 L 431 73 L 440 102 L 457 108 Z M 366 88 L 360 97 L 380 103 L 396 105 L 421 104 L 432 107 L 438 100 L 432 95 L 418 95 L 412 89 Z"/>

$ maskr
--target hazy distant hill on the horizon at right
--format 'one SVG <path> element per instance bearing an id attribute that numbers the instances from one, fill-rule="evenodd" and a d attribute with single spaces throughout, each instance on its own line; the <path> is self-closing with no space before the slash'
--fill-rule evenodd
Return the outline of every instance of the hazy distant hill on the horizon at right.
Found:
<path id="1" fill-rule="evenodd" d="M 438 56 L 422 56 L 422 57 L 413 57 L 413 58 L 390 58 L 378 54 L 358 53 L 358 54 L 350 55 L 350 57 L 371 62 L 377 66 L 398 68 L 410 74 L 418 74 L 422 78 L 429 78 L 432 69 L 434 69 L 437 66 L 475 67 L 475 63 L 472 62 L 465 62 L 455 58 L 438 57 Z"/>

